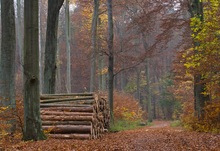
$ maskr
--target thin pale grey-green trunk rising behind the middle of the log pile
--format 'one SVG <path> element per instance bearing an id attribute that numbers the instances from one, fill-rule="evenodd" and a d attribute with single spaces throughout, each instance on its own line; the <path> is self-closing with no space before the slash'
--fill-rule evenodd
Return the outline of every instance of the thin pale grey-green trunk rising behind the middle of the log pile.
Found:
<path id="1" fill-rule="evenodd" d="M 66 89 L 67 93 L 71 93 L 71 52 L 70 52 L 70 13 L 69 13 L 69 0 L 66 0 L 65 9 L 65 19 L 66 19 Z"/>

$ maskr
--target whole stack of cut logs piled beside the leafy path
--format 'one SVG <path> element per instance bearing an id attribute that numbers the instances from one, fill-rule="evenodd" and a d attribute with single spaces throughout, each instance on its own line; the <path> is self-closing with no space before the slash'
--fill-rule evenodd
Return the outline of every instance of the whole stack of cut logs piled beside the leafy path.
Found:
<path id="1" fill-rule="evenodd" d="M 42 127 L 52 138 L 96 139 L 109 128 L 107 99 L 93 93 L 44 94 Z"/>

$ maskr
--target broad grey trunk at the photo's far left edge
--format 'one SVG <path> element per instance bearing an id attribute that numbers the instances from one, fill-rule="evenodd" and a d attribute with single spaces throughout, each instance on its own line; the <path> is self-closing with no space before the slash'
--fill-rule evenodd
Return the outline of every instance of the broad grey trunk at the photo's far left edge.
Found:
<path id="1" fill-rule="evenodd" d="M 1 1 L 0 106 L 15 108 L 15 11 L 13 0 Z M 13 129 L 11 129 L 13 131 Z"/>

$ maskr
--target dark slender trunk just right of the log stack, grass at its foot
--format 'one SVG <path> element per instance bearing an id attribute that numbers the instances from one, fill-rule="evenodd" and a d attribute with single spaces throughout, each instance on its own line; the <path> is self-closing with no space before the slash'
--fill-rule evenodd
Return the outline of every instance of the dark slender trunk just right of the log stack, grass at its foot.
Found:
<path id="1" fill-rule="evenodd" d="M 114 32 L 113 32 L 112 0 L 107 0 L 107 9 L 108 9 L 108 99 L 109 99 L 109 107 L 110 107 L 110 121 L 114 122 L 114 113 L 113 113 Z"/>

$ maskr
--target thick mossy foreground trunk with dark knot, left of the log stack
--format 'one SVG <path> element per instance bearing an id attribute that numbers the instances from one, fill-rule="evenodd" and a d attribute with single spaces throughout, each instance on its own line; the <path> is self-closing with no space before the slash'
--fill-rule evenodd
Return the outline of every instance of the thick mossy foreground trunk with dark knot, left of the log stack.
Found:
<path id="1" fill-rule="evenodd" d="M 23 139 L 42 140 L 39 93 L 38 1 L 24 1 L 24 134 Z"/>

